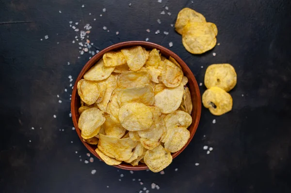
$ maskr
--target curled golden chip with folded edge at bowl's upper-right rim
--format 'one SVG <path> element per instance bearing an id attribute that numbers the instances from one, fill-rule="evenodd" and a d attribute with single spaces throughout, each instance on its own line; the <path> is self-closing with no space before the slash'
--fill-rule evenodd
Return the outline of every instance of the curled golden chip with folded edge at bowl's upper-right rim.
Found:
<path id="1" fill-rule="evenodd" d="M 166 87 L 178 87 L 183 78 L 183 71 L 168 59 L 164 60 L 164 64 L 162 83 L 164 83 Z"/>

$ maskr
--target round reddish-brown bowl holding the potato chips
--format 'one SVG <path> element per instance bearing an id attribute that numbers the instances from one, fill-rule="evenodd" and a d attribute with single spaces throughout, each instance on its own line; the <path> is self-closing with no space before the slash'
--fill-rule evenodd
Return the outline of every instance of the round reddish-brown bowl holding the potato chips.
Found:
<path id="1" fill-rule="evenodd" d="M 131 46 L 136 46 L 136 45 L 140 45 L 142 47 L 145 47 L 147 50 L 151 50 L 151 49 L 156 48 L 156 49 L 160 50 L 160 53 L 162 53 L 162 55 L 165 56 L 166 58 L 169 58 L 170 56 L 173 57 L 180 64 L 180 66 L 182 67 L 184 75 L 187 76 L 187 78 L 188 78 L 187 86 L 190 89 L 190 93 L 192 96 L 192 103 L 193 103 L 193 110 L 192 110 L 192 114 L 191 114 L 193 121 L 192 121 L 192 124 L 188 127 L 188 130 L 190 131 L 190 138 L 183 148 L 181 148 L 179 151 L 172 154 L 173 159 L 176 158 L 188 146 L 188 144 L 192 140 L 192 138 L 196 132 L 196 129 L 198 127 L 198 124 L 199 124 L 200 115 L 201 115 L 201 98 L 200 98 L 199 87 L 198 87 L 197 81 L 196 81 L 193 73 L 191 72 L 191 70 L 189 69 L 187 64 L 182 59 L 180 59 L 177 54 L 175 54 L 171 50 L 169 50 L 161 45 L 157 45 L 157 44 L 150 43 L 150 42 L 144 42 L 144 41 L 121 42 L 121 43 L 118 43 L 115 45 L 111 45 L 111 46 L 103 49 L 99 53 L 97 53 L 92 59 L 90 59 L 85 64 L 85 66 L 83 67 L 83 69 L 81 70 L 80 74 L 78 75 L 78 77 L 76 79 L 76 82 L 75 82 L 75 85 L 73 88 L 73 92 L 72 92 L 72 99 L 71 99 L 71 113 L 72 113 L 73 123 L 74 123 L 74 126 L 76 128 L 76 132 L 77 132 L 78 136 L 80 137 L 81 142 L 84 144 L 84 146 L 100 160 L 102 160 L 102 159 L 99 157 L 99 155 L 95 151 L 95 149 L 97 148 L 97 145 L 90 145 L 90 144 L 87 144 L 86 142 L 84 142 L 81 138 L 81 130 L 78 128 L 78 120 L 80 117 L 78 109 L 81 106 L 81 103 L 80 103 L 80 97 L 79 97 L 78 91 L 77 91 L 77 83 L 79 80 L 81 80 L 83 75 L 94 64 L 96 64 L 96 62 L 99 59 L 102 58 L 103 54 L 105 54 L 106 52 L 120 50 L 120 49 L 125 48 L 125 47 L 131 47 Z M 141 163 L 137 166 L 132 166 L 128 163 L 123 162 L 119 165 L 113 165 L 113 166 L 118 167 L 120 169 L 126 169 L 126 170 L 145 170 L 145 169 L 148 169 L 148 167 L 144 163 Z"/>

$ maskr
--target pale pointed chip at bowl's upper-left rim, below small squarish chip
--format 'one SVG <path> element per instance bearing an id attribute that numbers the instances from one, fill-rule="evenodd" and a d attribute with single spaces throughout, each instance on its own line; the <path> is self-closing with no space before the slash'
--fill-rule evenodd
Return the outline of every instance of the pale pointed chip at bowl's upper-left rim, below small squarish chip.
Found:
<path id="1" fill-rule="evenodd" d="M 97 62 L 97 64 L 95 64 L 84 74 L 84 79 L 94 81 L 104 80 L 105 78 L 108 78 L 110 76 L 114 68 L 115 68 L 114 66 L 113 67 L 104 66 L 103 59 L 100 59 Z"/>

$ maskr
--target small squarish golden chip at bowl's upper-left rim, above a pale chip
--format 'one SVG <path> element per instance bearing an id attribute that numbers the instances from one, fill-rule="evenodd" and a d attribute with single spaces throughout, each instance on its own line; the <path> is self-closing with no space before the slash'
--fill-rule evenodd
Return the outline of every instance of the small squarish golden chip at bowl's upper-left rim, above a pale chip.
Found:
<path id="1" fill-rule="evenodd" d="M 126 64 L 126 60 L 121 53 L 121 51 L 117 52 L 106 52 L 103 55 L 103 61 L 104 61 L 104 66 L 109 67 L 109 66 L 119 66 L 122 64 Z"/>

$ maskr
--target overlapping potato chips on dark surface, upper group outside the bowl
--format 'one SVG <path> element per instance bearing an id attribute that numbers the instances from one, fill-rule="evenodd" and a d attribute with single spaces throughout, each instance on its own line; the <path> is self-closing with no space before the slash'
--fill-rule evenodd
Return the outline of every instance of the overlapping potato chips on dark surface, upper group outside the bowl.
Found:
<path id="1" fill-rule="evenodd" d="M 192 54 L 202 54 L 216 45 L 215 24 L 206 22 L 203 15 L 184 8 L 178 13 L 175 30 L 182 35 L 182 43 Z"/>

